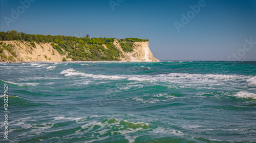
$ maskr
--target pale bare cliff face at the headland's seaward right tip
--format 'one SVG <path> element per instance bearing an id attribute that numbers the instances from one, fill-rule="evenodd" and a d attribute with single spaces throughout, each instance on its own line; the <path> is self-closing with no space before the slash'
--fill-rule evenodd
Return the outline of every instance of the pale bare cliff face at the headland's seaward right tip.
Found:
<path id="1" fill-rule="evenodd" d="M 123 53 L 124 58 L 120 58 L 122 61 L 159 62 L 158 59 L 154 58 L 148 47 L 148 42 L 134 42 L 132 52 L 124 52 L 117 39 L 115 39 L 114 45 Z"/>

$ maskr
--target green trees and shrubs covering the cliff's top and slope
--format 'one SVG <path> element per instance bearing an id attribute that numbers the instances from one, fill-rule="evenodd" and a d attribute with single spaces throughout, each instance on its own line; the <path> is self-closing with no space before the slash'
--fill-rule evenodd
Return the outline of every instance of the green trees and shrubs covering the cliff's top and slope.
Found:
<path id="1" fill-rule="evenodd" d="M 61 55 L 67 55 L 67 59 L 74 61 L 120 61 L 122 52 L 113 44 L 115 38 L 86 38 L 71 36 L 32 35 L 17 33 L 16 31 L 0 32 L 0 41 L 28 41 L 31 47 L 36 43 L 51 43 Z M 123 51 L 132 52 L 134 42 L 145 42 L 147 39 L 126 38 L 118 40 Z M 2 48 L 7 49 L 13 56 L 11 45 L 0 46 L 0 56 L 4 56 Z M 63 59 L 63 61 L 66 60 Z"/>

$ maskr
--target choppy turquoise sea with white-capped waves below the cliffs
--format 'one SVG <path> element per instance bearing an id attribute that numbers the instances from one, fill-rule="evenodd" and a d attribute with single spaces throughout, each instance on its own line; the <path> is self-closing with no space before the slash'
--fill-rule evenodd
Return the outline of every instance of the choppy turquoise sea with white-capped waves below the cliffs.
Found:
<path id="1" fill-rule="evenodd" d="M 256 62 L 1 63 L 0 75 L 0 142 L 256 141 Z"/>

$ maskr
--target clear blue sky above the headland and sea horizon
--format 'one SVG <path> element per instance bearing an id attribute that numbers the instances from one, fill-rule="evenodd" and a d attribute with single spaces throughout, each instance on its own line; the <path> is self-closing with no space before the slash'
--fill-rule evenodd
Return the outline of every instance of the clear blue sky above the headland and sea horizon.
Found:
<path id="1" fill-rule="evenodd" d="M 148 39 L 162 61 L 256 61 L 255 0 L 1 0 L 11 30 Z"/>

